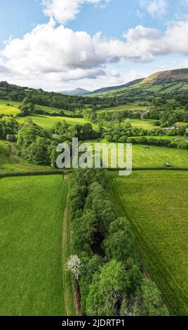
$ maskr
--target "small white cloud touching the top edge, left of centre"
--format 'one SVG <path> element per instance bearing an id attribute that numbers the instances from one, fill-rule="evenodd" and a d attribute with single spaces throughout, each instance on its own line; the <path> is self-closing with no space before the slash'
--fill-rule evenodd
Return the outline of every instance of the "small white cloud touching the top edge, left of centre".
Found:
<path id="1" fill-rule="evenodd" d="M 65 25 L 69 20 L 75 20 L 83 4 L 98 4 L 102 0 L 42 0 L 43 12 L 54 18 L 56 22 Z"/>

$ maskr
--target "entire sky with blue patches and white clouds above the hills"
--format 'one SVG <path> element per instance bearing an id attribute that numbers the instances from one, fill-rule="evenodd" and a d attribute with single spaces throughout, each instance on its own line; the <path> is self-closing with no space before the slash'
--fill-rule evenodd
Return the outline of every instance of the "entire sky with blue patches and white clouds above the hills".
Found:
<path id="1" fill-rule="evenodd" d="M 95 89 L 188 66 L 188 0 L 0 0 L 0 6 L 0 80 Z"/>

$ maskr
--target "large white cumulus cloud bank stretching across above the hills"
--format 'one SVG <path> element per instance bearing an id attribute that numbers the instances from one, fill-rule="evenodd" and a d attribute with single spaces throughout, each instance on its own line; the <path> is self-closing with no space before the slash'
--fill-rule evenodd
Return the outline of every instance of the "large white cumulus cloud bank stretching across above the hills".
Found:
<path id="1" fill-rule="evenodd" d="M 74 32 L 56 25 L 53 18 L 37 25 L 22 39 L 9 39 L 0 52 L 0 73 L 45 81 L 107 79 L 120 81 L 110 63 L 122 58 L 149 62 L 157 55 L 188 55 L 188 22 L 171 22 L 165 32 L 138 25 L 123 35 L 124 40 L 106 39 L 101 33 Z M 107 78 L 106 78 L 107 77 Z M 4 79 L 4 78 L 3 78 Z"/>

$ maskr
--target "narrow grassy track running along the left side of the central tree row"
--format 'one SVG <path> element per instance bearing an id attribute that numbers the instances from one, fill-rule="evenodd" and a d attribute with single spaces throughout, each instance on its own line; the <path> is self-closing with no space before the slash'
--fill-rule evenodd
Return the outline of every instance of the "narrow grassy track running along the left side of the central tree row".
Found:
<path id="1" fill-rule="evenodd" d="M 65 316 L 74 316 L 74 292 L 72 285 L 72 277 L 66 270 L 67 258 L 70 255 L 70 214 L 69 199 L 67 197 L 69 190 L 69 180 L 67 175 L 64 177 L 64 212 L 62 215 L 62 289 L 63 289 L 63 305 Z"/>

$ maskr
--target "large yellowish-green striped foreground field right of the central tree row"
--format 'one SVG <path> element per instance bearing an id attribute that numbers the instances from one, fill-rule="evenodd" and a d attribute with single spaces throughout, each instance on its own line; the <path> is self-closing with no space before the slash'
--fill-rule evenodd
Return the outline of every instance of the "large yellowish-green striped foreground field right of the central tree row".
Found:
<path id="1" fill-rule="evenodd" d="M 188 313 L 188 172 L 108 172 L 117 212 L 130 219 L 143 268 L 171 315 Z"/>

